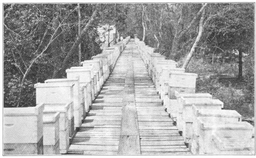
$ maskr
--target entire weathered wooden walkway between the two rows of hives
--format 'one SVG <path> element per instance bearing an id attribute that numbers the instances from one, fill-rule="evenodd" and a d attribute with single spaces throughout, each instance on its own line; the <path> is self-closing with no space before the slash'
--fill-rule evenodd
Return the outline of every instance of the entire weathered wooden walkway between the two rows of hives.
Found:
<path id="1" fill-rule="evenodd" d="M 190 154 L 134 41 L 118 58 L 68 154 Z"/>

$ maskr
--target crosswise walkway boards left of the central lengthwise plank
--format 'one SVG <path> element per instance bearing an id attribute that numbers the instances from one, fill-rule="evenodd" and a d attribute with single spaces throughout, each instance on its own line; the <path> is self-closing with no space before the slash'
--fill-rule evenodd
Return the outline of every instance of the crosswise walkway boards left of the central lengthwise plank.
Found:
<path id="1" fill-rule="evenodd" d="M 126 77 L 126 71 L 121 65 L 122 61 L 118 60 L 73 138 L 68 154 L 117 154 Z"/>

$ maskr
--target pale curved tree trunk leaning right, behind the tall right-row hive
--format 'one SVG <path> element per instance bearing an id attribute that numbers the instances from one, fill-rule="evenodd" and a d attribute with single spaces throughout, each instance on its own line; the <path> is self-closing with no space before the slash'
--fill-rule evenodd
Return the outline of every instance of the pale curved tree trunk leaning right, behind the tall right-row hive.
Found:
<path id="1" fill-rule="evenodd" d="M 200 41 L 200 38 L 201 38 L 201 36 L 202 36 L 203 30 L 204 30 L 204 25 L 203 25 L 204 13 L 205 13 L 205 10 L 203 10 L 203 13 L 202 13 L 202 15 L 201 15 L 201 19 L 200 19 L 200 22 L 199 22 L 199 30 L 198 30 L 198 35 L 197 35 L 197 37 L 196 37 L 196 40 L 195 40 L 195 42 L 194 42 L 192 48 L 190 49 L 190 52 L 189 52 L 189 54 L 187 55 L 184 64 L 182 65 L 182 68 L 183 68 L 183 69 L 186 69 L 186 68 L 188 67 L 189 62 L 190 62 L 190 60 L 191 60 L 191 58 L 192 58 L 192 55 L 193 55 L 193 53 L 195 52 L 195 47 L 197 46 L 197 43 Z"/>

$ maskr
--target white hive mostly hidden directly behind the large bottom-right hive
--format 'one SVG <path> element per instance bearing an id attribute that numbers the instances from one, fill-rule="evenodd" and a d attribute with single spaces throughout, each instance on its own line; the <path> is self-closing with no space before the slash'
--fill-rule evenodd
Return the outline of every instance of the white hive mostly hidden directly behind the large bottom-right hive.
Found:
<path id="1" fill-rule="evenodd" d="M 241 115 L 236 112 L 236 110 L 214 110 L 214 109 L 207 109 L 203 107 L 196 107 L 192 105 L 193 110 L 193 120 L 200 118 L 202 121 L 211 121 L 215 123 L 222 123 L 222 122 L 238 122 L 241 121 Z M 192 141 L 190 143 L 191 151 L 195 152 L 196 147 L 196 138 L 199 136 L 199 125 L 196 121 L 193 121 L 193 136 Z"/>

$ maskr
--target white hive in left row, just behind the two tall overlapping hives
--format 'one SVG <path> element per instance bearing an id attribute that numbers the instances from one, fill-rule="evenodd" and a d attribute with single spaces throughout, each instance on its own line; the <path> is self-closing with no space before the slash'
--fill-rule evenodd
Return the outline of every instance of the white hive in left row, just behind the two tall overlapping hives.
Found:
<path id="1" fill-rule="evenodd" d="M 91 98 L 94 99 L 94 74 L 92 72 L 92 68 L 73 68 L 73 69 L 66 69 L 67 78 L 74 78 L 74 76 L 79 76 L 79 84 L 80 87 L 87 85 L 90 83 L 91 87 Z"/>

